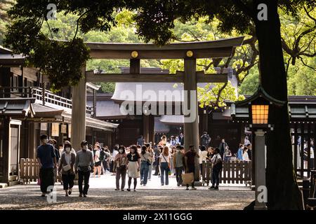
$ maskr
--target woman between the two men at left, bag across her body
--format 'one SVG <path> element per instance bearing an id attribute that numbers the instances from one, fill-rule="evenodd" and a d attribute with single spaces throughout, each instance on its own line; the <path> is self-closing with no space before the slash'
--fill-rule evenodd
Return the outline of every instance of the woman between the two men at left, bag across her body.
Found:
<path id="1" fill-rule="evenodd" d="M 65 153 L 60 158 L 60 166 L 58 172 L 62 172 L 62 184 L 65 190 L 65 196 L 72 194 L 72 187 L 74 186 L 74 163 L 76 162 L 76 155 L 71 152 L 72 146 L 65 144 Z"/>

